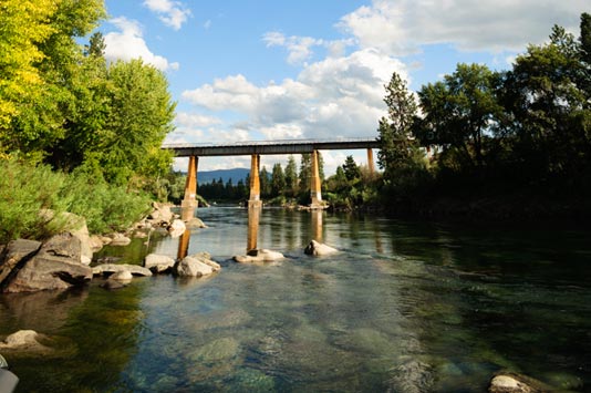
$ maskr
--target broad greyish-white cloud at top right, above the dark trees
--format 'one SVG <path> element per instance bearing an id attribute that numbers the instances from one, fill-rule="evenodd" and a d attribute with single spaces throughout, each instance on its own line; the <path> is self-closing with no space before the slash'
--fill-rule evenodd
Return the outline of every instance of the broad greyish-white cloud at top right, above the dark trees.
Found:
<path id="1" fill-rule="evenodd" d="M 452 43 L 467 51 L 520 51 L 545 41 L 553 23 L 577 30 L 588 0 L 374 0 L 338 27 L 361 48 L 391 55 Z"/>

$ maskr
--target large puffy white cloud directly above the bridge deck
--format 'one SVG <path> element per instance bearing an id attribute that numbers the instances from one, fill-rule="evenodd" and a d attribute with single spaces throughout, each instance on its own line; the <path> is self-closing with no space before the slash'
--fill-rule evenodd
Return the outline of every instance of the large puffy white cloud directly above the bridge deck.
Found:
<path id="1" fill-rule="evenodd" d="M 385 113 L 384 84 L 394 71 L 407 77 L 400 61 L 363 50 L 304 66 L 297 80 L 281 84 L 257 86 L 234 75 L 182 96 L 210 111 L 245 116 L 249 136 L 252 132 L 269 139 L 375 136 L 377 120 Z"/>

